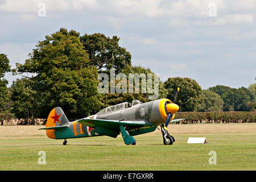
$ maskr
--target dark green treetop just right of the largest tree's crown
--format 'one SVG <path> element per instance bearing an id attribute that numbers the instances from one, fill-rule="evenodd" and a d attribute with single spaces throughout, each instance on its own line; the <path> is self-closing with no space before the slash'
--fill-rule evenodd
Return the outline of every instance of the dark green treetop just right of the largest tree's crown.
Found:
<path id="1" fill-rule="evenodd" d="M 109 71 L 110 68 L 114 68 L 115 73 L 131 64 L 131 54 L 119 46 L 119 39 L 117 36 L 109 38 L 100 33 L 80 37 L 84 48 L 88 50 L 90 64 L 98 70 L 104 68 Z"/>

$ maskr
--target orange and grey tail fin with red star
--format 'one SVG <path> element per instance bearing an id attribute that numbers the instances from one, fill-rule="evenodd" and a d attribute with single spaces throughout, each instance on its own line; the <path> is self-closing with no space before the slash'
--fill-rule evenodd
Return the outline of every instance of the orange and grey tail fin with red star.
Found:
<path id="1" fill-rule="evenodd" d="M 47 137 L 55 139 L 55 129 L 53 127 L 61 128 L 61 126 L 67 126 L 69 124 L 68 118 L 64 114 L 63 110 L 60 107 L 55 107 L 51 110 L 48 115 L 46 122 L 46 134 Z M 47 127 L 51 127 L 52 129 L 48 129 Z"/>

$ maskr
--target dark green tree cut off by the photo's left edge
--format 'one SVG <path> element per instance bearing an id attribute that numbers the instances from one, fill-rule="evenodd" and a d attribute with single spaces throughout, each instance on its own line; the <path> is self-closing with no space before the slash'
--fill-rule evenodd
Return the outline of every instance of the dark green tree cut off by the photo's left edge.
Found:
<path id="1" fill-rule="evenodd" d="M 9 93 L 7 89 L 8 81 L 3 78 L 5 73 L 10 72 L 11 67 L 9 65 L 9 59 L 7 55 L 0 54 L 0 111 L 4 110 L 5 103 L 8 101 Z"/>

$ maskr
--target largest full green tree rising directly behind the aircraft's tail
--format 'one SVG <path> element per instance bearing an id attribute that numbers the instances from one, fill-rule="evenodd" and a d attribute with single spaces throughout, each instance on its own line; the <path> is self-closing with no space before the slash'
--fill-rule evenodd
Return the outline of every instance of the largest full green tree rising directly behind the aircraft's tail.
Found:
<path id="1" fill-rule="evenodd" d="M 80 42 L 79 33 L 60 31 L 39 41 L 24 64 L 16 64 L 16 73 L 31 73 L 32 90 L 40 96 L 40 117 L 46 118 L 56 106 L 67 117 L 77 119 L 96 113 L 101 106 L 97 92 L 97 68 Z"/>

